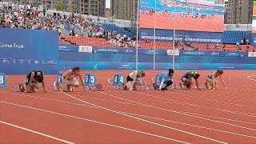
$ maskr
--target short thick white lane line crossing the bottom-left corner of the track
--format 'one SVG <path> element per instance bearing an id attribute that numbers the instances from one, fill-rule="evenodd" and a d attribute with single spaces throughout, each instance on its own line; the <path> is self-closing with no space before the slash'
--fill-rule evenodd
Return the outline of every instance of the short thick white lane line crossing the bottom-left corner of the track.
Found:
<path id="1" fill-rule="evenodd" d="M 48 134 L 42 134 L 42 133 L 40 133 L 40 132 L 38 132 L 38 131 L 26 129 L 25 127 L 17 126 L 17 125 L 8 123 L 8 122 L 0 121 L 0 123 L 5 124 L 5 125 L 7 125 L 7 126 L 13 126 L 13 127 L 15 127 L 15 128 L 21 129 L 21 130 L 26 130 L 26 131 L 29 131 L 29 132 L 34 133 L 34 134 L 42 135 L 42 136 L 44 136 L 44 137 L 46 137 L 46 138 L 51 138 L 51 139 L 57 140 L 57 141 L 59 141 L 59 142 L 74 144 L 74 142 L 69 142 L 69 141 L 66 141 L 66 140 L 61 139 L 61 138 L 56 138 L 56 137 L 50 136 L 50 135 L 48 135 Z"/>

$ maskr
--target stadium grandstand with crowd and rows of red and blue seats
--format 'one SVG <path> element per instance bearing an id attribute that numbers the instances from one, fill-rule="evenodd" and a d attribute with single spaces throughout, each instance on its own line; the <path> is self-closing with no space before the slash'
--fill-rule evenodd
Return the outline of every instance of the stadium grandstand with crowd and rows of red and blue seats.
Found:
<path id="1" fill-rule="evenodd" d="M 210 2 L 206 2 L 204 4 L 209 3 Z M 168 5 L 165 1 L 162 1 L 162 4 Z M 182 5 L 184 5 L 184 3 L 181 2 L 174 6 Z M 189 6 L 193 6 L 193 4 Z M 58 30 L 60 35 L 59 43 L 64 45 L 120 48 L 136 47 L 136 28 L 130 27 L 130 22 L 127 22 L 127 20 L 110 22 L 111 20 L 109 18 L 74 14 L 72 12 L 69 13 L 57 10 L 39 11 L 38 7 L 30 8 L 30 6 L 24 7 L 14 3 L 12 3 L 11 7 L 12 8 L 10 9 L 8 2 L 1 2 L 0 4 L 2 28 Z M 187 9 L 188 8 L 186 7 L 186 10 Z M 202 9 L 208 10 L 207 7 L 203 7 Z M 196 10 L 198 10 L 198 6 L 196 6 Z M 218 9 L 213 10 L 222 11 Z M 144 14 L 144 11 L 142 14 Z M 203 16 L 199 16 L 198 14 L 197 16 L 190 16 L 188 13 L 184 16 L 184 14 L 185 13 L 180 16 L 184 18 L 202 18 Z M 170 13 L 168 17 L 173 17 L 173 15 Z M 214 15 L 212 15 L 212 17 L 214 17 Z M 212 20 L 213 19 L 210 18 L 209 22 L 212 22 Z M 182 23 L 179 24 L 182 25 Z M 206 27 L 206 29 L 209 30 L 210 27 Z M 251 31 L 247 30 L 224 30 L 222 42 L 202 43 L 180 40 L 175 42 L 175 46 L 179 50 L 253 51 L 255 50 L 255 47 L 250 45 L 252 42 L 251 35 Z M 138 47 L 142 49 L 153 49 L 153 45 L 153 38 L 145 38 L 138 41 Z M 174 42 L 171 41 L 156 42 L 156 49 L 167 50 L 173 47 L 173 45 Z"/>

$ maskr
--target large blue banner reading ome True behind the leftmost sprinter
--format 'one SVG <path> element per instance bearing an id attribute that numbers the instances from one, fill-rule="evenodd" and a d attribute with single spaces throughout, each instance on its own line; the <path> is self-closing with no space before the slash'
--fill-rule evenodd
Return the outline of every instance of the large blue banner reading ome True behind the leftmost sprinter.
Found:
<path id="1" fill-rule="evenodd" d="M 6 74 L 58 74 L 58 32 L 0 29 L 0 67 Z"/>

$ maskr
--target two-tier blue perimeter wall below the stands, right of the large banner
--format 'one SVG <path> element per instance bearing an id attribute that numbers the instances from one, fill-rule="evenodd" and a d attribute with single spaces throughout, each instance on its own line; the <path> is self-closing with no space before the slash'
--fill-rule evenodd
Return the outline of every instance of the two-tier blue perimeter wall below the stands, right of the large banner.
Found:
<path id="1" fill-rule="evenodd" d="M 80 66 L 83 70 L 134 70 L 136 50 L 92 47 L 95 53 L 78 52 L 78 46 L 60 46 L 60 70 Z M 153 70 L 153 50 L 138 50 L 138 69 Z M 169 69 L 172 56 L 156 50 L 157 70 Z M 246 52 L 179 51 L 174 57 L 177 70 L 256 70 L 255 58 Z"/>

